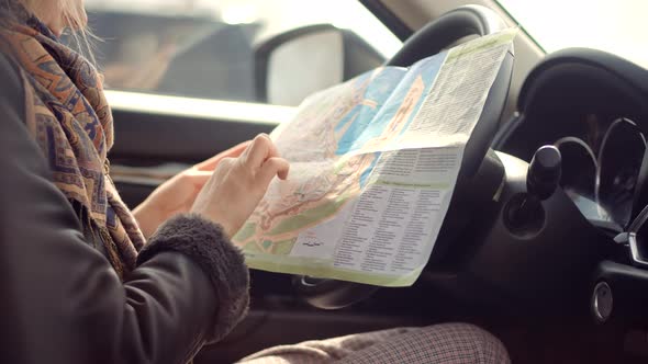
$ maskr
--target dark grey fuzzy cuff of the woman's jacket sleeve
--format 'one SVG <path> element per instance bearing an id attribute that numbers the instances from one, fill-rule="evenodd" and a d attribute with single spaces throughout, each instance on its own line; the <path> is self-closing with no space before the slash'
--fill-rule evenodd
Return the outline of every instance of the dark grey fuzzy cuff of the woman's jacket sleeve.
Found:
<path id="1" fill-rule="evenodd" d="M 161 251 L 190 257 L 209 275 L 219 304 L 209 342 L 224 338 L 243 319 L 249 305 L 249 271 L 245 259 L 220 225 L 195 214 L 170 218 L 150 237 L 137 265 Z"/>

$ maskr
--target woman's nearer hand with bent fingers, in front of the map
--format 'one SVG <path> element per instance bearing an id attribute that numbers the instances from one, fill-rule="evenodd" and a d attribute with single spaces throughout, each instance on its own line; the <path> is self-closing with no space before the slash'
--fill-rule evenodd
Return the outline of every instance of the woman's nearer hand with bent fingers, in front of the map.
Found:
<path id="1" fill-rule="evenodd" d="M 221 225 L 232 237 L 264 197 L 270 181 L 275 177 L 286 180 L 289 168 L 270 138 L 261 134 L 238 158 L 219 163 L 191 212 Z"/>

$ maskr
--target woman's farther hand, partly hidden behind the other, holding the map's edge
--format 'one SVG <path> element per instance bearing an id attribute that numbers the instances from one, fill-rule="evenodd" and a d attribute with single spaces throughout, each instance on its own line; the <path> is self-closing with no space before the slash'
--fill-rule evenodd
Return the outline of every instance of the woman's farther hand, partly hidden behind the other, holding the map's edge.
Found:
<path id="1" fill-rule="evenodd" d="M 146 201 L 133 211 L 144 236 L 148 239 L 157 230 L 157 227 L 168 218 L 176 214 L 188 213 L 195 196 L 209 181 L 221 160 L 238 157 L 249 144 L 250 141 L 245 141 L 217 153 L 160 184 Z"/>

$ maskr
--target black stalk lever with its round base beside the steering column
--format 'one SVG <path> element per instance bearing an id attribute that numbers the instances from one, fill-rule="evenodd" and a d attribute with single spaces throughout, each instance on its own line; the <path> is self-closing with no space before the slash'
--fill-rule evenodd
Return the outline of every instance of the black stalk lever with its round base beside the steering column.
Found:
<path id="1" fill-rule="evenodd" d="M 526 230 L 532 226 L 541 226 L 541 202 L 549 198 L 558 187 L 561 167 L 562 159 L 558 148 L 543 146 L 536 150 L 526 174 L 527 193 L 511 201 L 507 207 L 510 228 Z"/>

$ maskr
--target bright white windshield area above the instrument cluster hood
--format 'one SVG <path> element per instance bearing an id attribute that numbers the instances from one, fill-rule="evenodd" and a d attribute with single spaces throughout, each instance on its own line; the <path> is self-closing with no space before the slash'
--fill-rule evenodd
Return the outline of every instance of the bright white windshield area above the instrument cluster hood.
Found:
<path id="1" fill-rule="evenodd" d="M 499 0 L 547 52 L 588 47 L 648 68 L 648 1 Z"/>

